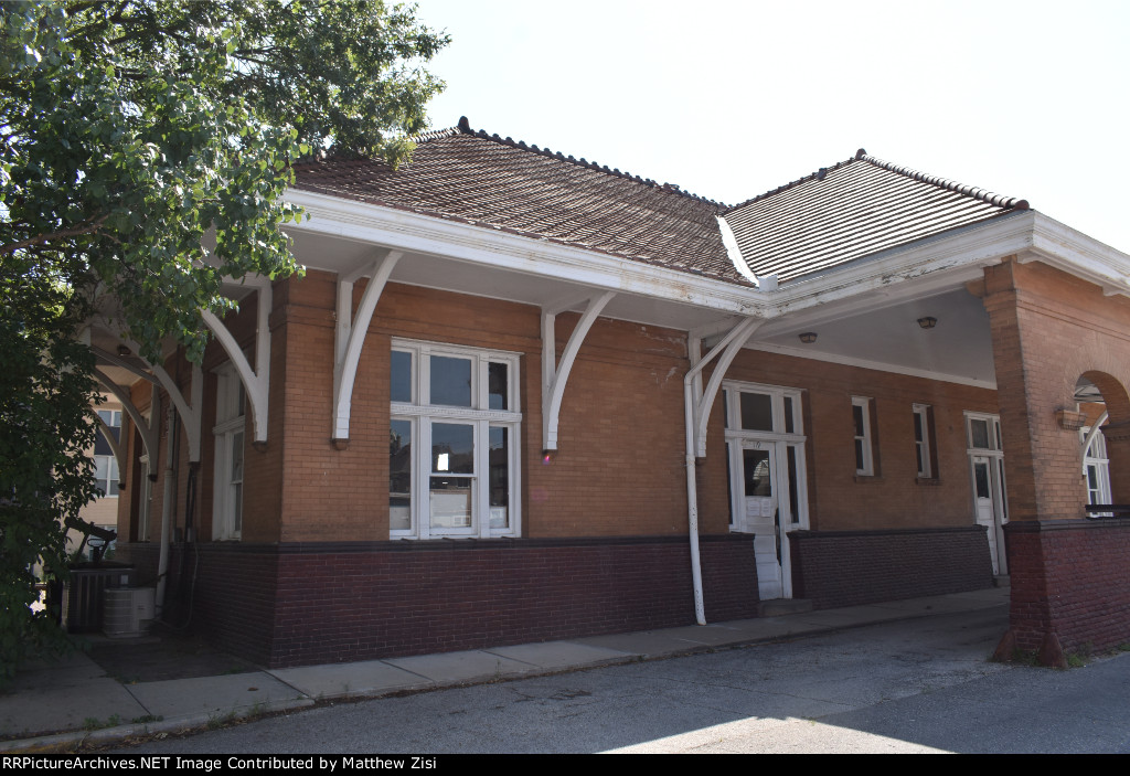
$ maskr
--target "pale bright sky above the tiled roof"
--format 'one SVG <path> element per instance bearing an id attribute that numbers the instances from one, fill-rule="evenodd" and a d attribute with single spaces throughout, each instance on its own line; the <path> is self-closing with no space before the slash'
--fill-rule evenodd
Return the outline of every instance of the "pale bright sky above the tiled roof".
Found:
<path id="1" fill-rule="evenodd" d="M 736 204 L 854 156 L 1130 253 L 1130 2 L 419 0 L 470 125 Z"/>

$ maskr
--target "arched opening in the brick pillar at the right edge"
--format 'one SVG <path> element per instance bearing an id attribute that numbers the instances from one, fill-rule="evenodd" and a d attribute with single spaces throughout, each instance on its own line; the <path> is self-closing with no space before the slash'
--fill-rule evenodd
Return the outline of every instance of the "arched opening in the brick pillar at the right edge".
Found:
<path id="1" fill-rule="evenodd" d="M 1130 395 L 1104 372 L 1086 372 L 1076 382 L 1075 401 L 1083 413 L 1079 429 L 1080 473 L 1088 507 L 1130 504 Z M 1111 509 L 1088 508 L 1092 516 Z"/>

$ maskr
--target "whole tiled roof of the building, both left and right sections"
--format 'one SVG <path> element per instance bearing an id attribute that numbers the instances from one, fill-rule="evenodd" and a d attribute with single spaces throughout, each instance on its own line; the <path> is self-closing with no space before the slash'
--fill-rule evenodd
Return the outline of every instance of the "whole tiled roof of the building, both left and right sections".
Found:
<path id="1" fill-rule="evenodd" d="M 868 156 L 728 207 L 608 166 L 458 127 L 417 138 L 412 160 L 329 158 L 295 188 L 411 210 L 750 285 L 722 243 L 724 216 L 757 276 L 781 282 L 1028 203 Z"/>

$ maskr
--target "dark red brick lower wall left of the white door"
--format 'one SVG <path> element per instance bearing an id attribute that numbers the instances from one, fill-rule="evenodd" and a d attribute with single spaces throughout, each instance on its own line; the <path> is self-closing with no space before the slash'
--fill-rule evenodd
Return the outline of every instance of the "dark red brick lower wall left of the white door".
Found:
<path id="1" fill-rule="evenodd" d="M 169 565 L 169 619 L 271 666 L 372 660 L 690 625 L 683 537 L 202 543 Z M 712 621 L 754 617 L 748 537 L 701 543 Z M 154 584 L 154 544 L 123 555 Z M 190 617 L 191 614 L 191 617 Z"/>

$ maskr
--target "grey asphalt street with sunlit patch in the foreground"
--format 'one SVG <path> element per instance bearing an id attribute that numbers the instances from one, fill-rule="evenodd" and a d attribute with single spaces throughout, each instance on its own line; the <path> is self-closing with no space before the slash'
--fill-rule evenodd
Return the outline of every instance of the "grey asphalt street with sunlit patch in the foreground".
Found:
<path id="1" fill-rule="evenodd" d="M 138 753 L 1130 752 L 1130 653 L 988 661 L 1007 610 L 323 706 Z"/>

